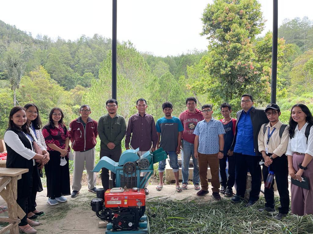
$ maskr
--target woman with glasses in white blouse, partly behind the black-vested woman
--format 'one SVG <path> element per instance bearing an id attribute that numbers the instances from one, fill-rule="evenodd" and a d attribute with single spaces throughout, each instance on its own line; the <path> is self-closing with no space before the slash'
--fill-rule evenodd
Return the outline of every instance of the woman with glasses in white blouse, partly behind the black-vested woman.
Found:
<path id="1" fill-rule="evenodd" d="M 47 150 L 46 143 L 44 142 L 44 136 L 42 135 L 41 131 L 41 119 L 38 112 L 38 107 L 33 103 L 28 103 L 24 106 L 24 109 L 26 110 L 26 117 L 27 117 L 27 125 L 29 127 L 29 130 L 31 131 L 32 135 L 34 135 L 35 139 L 38 142 L 38 145 L 42 145 L 44 150 Z M 39 174 L 42 175 L 42 168 L 44 167 L 43 163 L 36 163 L 39 169 Z M 40 173 L 41 172 L 41 173 Z M 42 177 L 42 176 L 41 176 Z M 38 179 L 38 178 L 37 178 Z M 32 196 L 31 201 L 28 202 L 28 214 L 27 217 L 29 219 L 35 219 L 38 216 L 41 216 L 44 214 L 43 211 L 39 211 L 36 209 L 36 195 L 37 192 L 43 191 L 41 180 L 37 181 L 38 186 L 33 187 L 32 190 Z"/>

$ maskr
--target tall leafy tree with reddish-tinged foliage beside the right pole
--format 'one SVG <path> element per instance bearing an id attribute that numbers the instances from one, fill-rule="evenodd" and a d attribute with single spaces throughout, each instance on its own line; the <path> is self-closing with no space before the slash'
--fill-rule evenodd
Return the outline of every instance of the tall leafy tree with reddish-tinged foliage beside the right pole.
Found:
<path id="1" fill-rule="evenodd" d="M 209 40 L 203 65 L 212 99 L 229 102 L 246 92 L 259 97 L 262 81 L 253 43 L 264 27 L 261 5 L 256 0 L 214 0 L 202 22 L 201 34 Z"/>

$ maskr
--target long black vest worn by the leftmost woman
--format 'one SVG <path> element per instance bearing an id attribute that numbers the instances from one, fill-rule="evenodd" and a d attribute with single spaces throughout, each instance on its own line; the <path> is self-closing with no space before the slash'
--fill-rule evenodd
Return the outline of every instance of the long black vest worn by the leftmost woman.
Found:
<path id="1" fill-rule="evenodd" d="M 18 135 L 18 138 L 22 141 L 23 145 L 26 148 L 32 149 L 32 145 L 30 144 L 25 134 L 23 134 L 23 132 L 19 132 L 11 128 L 7 129 L 7 131 L 9 130 L 15 132 Z M 30 197 L 33 186 L 36 186 L 37 191 L 41 192 L 43 189 L 42 189 L 41 180 L 39 177 L 39 171 L 38 169 L 36 171 L 33 171 L 33 169 L 34 168 L 36 169 L 37 167 L 37 166 L 35 167 L 33 166 L 33 160 L 32 159 L 28 160 L 24 158 L 20 154 L 16 153 L 13 149 L 11 149 L 11 147 L 8 146 L 7 144 L 5 144 L 5 146 L 8 152 L 7 163 L 6 163 L 7 168 L 27 168 L 28 169 L 28 172 L 23 173 L 22 178 L 19 179 L 17 182 L 18 198 Z M 33 183 L 35 181 L 36 183 Z M 40 181 L 40 184 L 38 184 L 39 181 Z"/>

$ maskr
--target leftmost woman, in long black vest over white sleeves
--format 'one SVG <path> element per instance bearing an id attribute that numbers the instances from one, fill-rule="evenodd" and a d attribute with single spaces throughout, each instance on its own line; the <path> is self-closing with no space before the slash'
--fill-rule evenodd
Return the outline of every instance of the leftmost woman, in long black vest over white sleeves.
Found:
<path id="1" fill-rule="evenodd" d="M 30 134 L 27 125 L 26 112 L 23 107 L 13 107 L 9 115 L 9 126 L 4 134 L 4 142 L 8 151 L 7 168 L 27 168 L 28 172 L 22 174 L 22 178 L 17 182 L 18 205 L 28 214 L 28 201 L 36 184 L 39 173 L 35 164 L 35 159 L 40 159 L 43 163 L 49 161 L 49 154 L 36 154 L 33 150 L 34 137 Z M 21 217 L 20 217 L 21 218 Z M 25 215 L 18 224 L 19 229 L 24 233 L 36 233 L 31 226 L 40 225 L 39 222 L 32 221 Z"/>

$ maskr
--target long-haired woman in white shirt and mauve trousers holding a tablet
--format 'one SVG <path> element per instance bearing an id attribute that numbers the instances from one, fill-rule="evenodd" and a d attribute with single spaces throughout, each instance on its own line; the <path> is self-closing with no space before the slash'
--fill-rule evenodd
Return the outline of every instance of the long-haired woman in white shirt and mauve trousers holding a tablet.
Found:
<path id="1" fill-rule="evenodd" d="M 297 215 L 313 214 L 313 116 L 304 104 L 291 108 L 289 120 L 289 143 L 286 155 L 291 178 L 302 181 L 301 176 L 309 180 L 310 190 L 291 184 L 291 213 Z M 309 125 L 308 138 L 305 129 Z"/>

